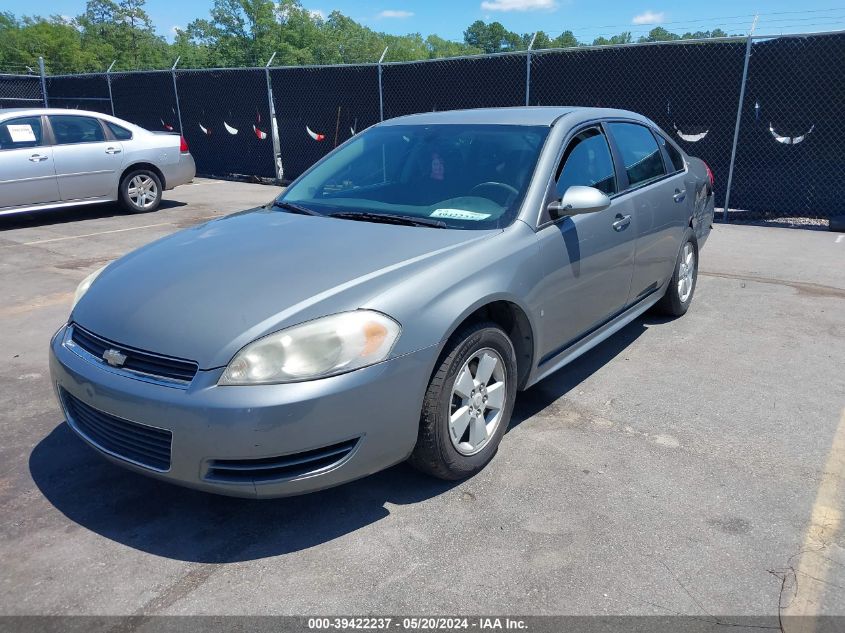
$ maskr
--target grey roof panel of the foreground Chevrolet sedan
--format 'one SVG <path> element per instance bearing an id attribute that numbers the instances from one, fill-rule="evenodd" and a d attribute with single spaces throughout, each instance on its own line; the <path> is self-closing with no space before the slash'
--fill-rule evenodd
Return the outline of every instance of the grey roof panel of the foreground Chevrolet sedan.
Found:
<path id="1" fill-rule="evenodd" d="M 581 121 L 623 118 L 652 123 L 641 114 L 617 108 L 587 108 L 581 106 L 517 106 L 510 108 L 477 108 L 472 110 L 444 110 L 422 112 L 390 119 L 381 125 L 554 125 L 565 118 L 573 125 Z M 652 123 L 653 124 L 653 123 Z"/>

